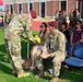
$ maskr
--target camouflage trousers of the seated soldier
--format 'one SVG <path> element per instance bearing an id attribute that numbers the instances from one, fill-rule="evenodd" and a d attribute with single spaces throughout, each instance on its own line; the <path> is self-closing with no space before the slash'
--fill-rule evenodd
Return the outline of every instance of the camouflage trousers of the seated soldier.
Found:
<path id="1" fill-rule="evenodd" d="M 52 58 L 52 70 L 54 70 L 54 75 L 58 77 L 60 74 L 60 69 L 61 69 L 61 62 L 64 60 L 66 56 L 56 56 Z M 35 54 L 35 65 L 40 70 L 44 68 L 43 66 L 43 59 L 40 58 L 40 51 L 37 50 Z"/>

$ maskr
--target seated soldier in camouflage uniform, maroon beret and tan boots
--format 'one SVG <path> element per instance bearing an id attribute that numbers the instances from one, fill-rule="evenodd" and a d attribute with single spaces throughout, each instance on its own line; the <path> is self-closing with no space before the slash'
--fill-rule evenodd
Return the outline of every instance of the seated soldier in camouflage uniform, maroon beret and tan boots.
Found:
<path id="1" fill-rule="evenodd" d="M 58 31 L 58 23 L 56 21 L 48 22 L 50 33 L 48 34 L 47 39 L 45 40 L 43 50 L 37 50 L 35 54 L 35 65 L 39 70 L 39 73 L 35 78 L 40 78 L 44 75 L 44 66 L 42 59 L 51 58 L 52 59 L 52 70 L 54 78 L 50 82 L 57 82 L 59 80 L 61 62 L 66 58 L 66 37 Z"/>

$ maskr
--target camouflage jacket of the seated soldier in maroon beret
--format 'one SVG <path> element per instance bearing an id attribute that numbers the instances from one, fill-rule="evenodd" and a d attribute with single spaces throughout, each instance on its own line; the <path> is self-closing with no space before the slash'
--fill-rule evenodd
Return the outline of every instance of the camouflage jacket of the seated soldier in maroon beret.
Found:
<path id="1" fill-rule="evenodd" d="M 67 39 L 60 31 L 56 34 L 49 33 L 47 39 L 45 40 L 43 51 L 48 49 L 51 57 L 66 55 L 66 42 Z"/>

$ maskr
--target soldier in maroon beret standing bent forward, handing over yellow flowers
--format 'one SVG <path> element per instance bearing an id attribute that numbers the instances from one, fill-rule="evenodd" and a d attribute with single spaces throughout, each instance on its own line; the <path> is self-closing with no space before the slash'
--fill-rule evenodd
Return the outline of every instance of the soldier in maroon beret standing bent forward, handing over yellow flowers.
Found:
<path id="1" fill-rule="evenodd" d="M 36 12 L 34 10 L 27 14 L 16 15 L 11 20 L 9 26 L 4 30 L 5 48 L 10 62 L 13 67 L 12 73 L 17 74 L 17 78 L 29 75 L 29 73 L 24 73 L 22 67 L 20 37 L 22 36 L 25 39 L 28 38 L 35 43 L 31 28 L 33 19 L 36 19 Z M 26 32 L 26 36 L 23 35 L 24 32 Z"/>

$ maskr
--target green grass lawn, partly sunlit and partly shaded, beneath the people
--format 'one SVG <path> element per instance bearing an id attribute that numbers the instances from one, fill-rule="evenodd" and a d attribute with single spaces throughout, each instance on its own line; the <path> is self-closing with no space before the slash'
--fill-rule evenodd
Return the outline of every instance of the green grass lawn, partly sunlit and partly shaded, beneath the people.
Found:
<path id="1" fill-rule="evenodd" d="M 35 34 L 35 33 L 34 33 Z M 32 45 L 31 45 L 32 48 Z M 22 39 L 22 57 L 27 57 L 27 43 L 26 40 Z M 35 79 L 34 73 L 36 74 L 36 71 L 29 72 L 28 70 L 25 70 L 25 72 L 29 72 L 31 75 L 26 78 L 16 78 L 15 75 L 12 75 L 12 67 L 9 62 L 8 55 L 4 47 L 4 40 L 3 40 L 3 28 L 0 27 L 0 82 L 48 82 L 52 74 L 50 74 L 47 69 L 51 68 L 50 62 L 45 63 L 47 75 L 44 79 Z M 63 69 L 63 79 L 60 79 L 59 82 L 83 82 L 83 69 Z"/>

